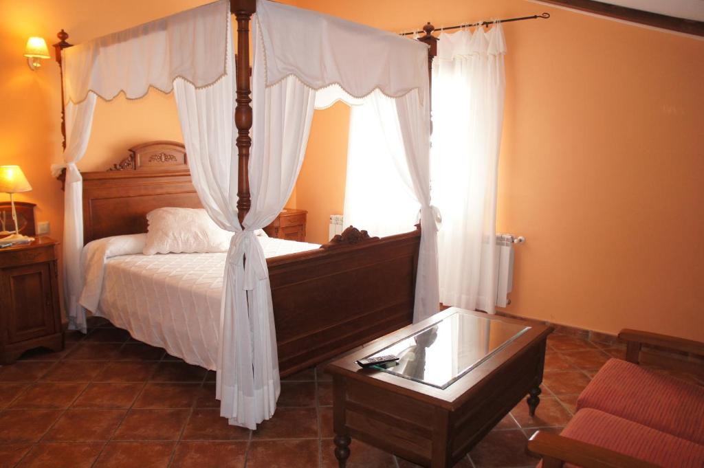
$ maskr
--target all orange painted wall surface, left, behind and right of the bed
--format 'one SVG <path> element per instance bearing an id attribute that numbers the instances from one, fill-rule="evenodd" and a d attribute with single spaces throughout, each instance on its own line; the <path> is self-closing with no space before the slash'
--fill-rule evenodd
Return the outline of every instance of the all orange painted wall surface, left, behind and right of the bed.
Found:
<path id="1" fill-rule="evenodd" d="M 31 72 L 28 36 L 70 41 L 206 0 L 0 0 L 0 164 L 19 164 L 37 219 L 61 239 L 58 68 Z M 287 2 L 289 3 L 289 2 Z M 295 3 L 295 2 L 291 2 Z M 517 248 L 509 312 L 615 333 L 622 327 L 704 341 L 704 42 L 522 0 L 302 0 L 303 7 L 401 31 L 549 11 L 507 24 L 507 96 L 498 229 Z M 52 51 L 53 55 L 53 51 Z M 290 206 L 310 210 L 308 240 L 341 213 L 348 112 L 316 113 Z M 100 103 L 80 167 L 102 170 L 146 139 L 180 139 L 171 96 Z M 0 194 L 0 197 L 5 197 Z M 4 198 L 2 198 L 4 199 Z M 322 223 L 322 225 L 321 225 Z M 322 239 L 324 240 L 324 239 Z"/>

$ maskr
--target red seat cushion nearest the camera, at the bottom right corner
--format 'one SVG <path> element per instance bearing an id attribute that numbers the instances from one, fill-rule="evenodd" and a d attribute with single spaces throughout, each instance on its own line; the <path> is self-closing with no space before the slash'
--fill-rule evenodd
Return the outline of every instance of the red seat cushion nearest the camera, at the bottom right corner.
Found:
<path id="1" fill-rule="evenodd" d="M 577 411 L 560 436 L 608 448 L 661 467 L 704 466 L 704 445 L 589 408 Z"/>

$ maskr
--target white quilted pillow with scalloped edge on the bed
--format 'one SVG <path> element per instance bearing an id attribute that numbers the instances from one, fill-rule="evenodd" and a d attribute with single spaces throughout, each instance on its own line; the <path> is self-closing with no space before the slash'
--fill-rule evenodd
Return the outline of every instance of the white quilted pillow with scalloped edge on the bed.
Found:
<path id="1" fill-rule="evenodd" d="M 156 208 L 146 215 L 144 255 L 227 252 L 232 232 L 220 229 L 202 208 Z"/>

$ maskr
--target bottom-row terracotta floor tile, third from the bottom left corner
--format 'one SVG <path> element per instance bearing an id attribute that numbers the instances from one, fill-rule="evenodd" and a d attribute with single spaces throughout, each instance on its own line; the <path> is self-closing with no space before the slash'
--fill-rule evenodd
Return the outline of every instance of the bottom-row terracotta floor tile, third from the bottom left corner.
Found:
<path id="1" fill-rule="evenodd" d="M 93 468 L 166 468 L 174 442 L 111 442 Z"/>

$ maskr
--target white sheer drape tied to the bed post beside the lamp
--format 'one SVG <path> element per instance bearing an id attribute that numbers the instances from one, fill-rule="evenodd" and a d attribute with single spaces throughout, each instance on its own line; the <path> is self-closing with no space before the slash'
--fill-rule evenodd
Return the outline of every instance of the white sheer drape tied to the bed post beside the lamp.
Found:
<path id="1" fill-rule="evenodd" d="M 66 149 L 63 164 L 51 165 L 56 176 L 65 168 L 63 208 L 63 298 L 68 317 L 68 329 L 86 333 L 86 312 L 78 303 L 83 290 L 81 250 L 83 248 L 83 178 L 76 163 L 83 158 L 88 147 L 96 95 L 88 94 L 80 104 L 68 103 L 65 107 Z"/>

